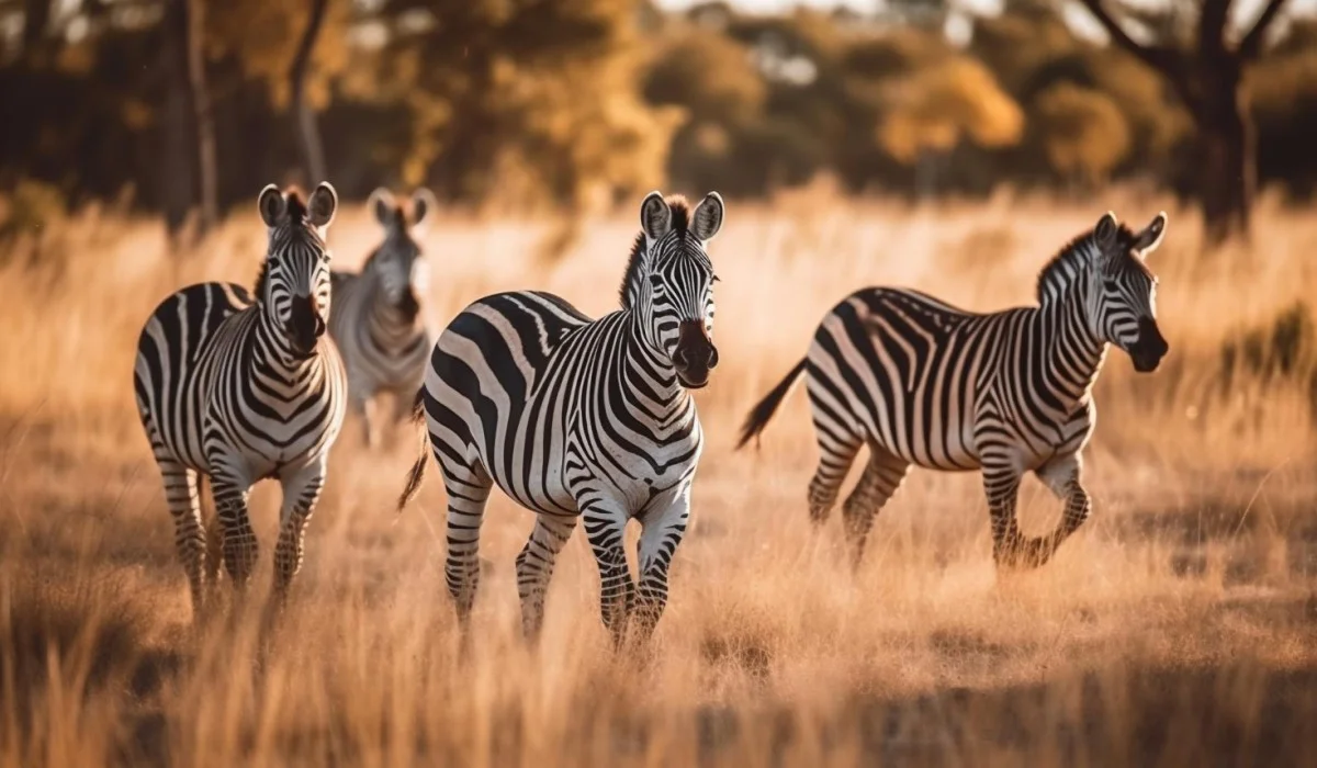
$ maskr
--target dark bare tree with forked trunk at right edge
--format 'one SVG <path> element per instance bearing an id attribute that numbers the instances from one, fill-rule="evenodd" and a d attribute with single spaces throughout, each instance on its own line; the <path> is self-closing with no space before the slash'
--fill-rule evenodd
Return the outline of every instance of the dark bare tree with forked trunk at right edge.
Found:
<path id="1" fill-rule="evenodd" d="M 1226 41 L 1231 0 L 1202 0 L 1188 45 L 1176 42 L 1175 24 L 1144 25 L 1152 26 L 1156 37 L 1148 43 L 1138 42 L 1102 0 L 1081 1 L 1113 45 L 1166 78 L 1188 109 L 1197 129 L 1196 187 L 1208 240 L 1221 242 L 1233 234 L 1247 236 L 1258 170 L 1245 71 L 1262 54 L 1285 0 L 1267 0 L 1252 26 L 1233 46 Z"/>

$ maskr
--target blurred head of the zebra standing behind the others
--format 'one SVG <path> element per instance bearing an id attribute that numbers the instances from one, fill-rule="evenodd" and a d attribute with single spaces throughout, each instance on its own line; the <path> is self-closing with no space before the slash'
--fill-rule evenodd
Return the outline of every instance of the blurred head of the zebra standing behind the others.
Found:
<path id="1" fill-rule="evenodd" d="M 410 323 L 420 314 L 420 296 L 429 290 L 429 263 L 412 236 L 424 232 L 427 219 L 439 204 L 429 190 L 416 190 L 408 221 L 392 192 L 381 187 L 370 194 L 369 206 L 375 220 L 385 228 L 385 242 L 371 254 L 366 269 L 378 275 L 385 302 Z"/>

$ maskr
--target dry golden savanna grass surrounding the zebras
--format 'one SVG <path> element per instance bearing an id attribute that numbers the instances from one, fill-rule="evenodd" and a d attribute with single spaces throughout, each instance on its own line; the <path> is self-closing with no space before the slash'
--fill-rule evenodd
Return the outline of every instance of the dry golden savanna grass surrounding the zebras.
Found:
<path id="1" fill-rule="evenodd" d="M 691 191 L 695 192 L 695 191 Z M 1034 278 L 1112 208 L 1171 224 L 1150 258 L 1171 354 L 1114 352 L 1088 453 L 1094 512 L 1046 568 L 994 572 L 977 474 L 914 470 L 868 557 L 811 530 L 815 458 L 797 391 L 759 451 L 751 404 L 853 288 L 896 283 L 975 310 Z M 265 233 L 236 212 L 199 246 L 87 211 L 0 261 L 0 767 L 78 765 L 1246 765 L 1317 759 L 1317 216 L 1267 204 L 1255 241 L 1205 253 L 1192 212 L 1112 194 L 907 208 L 811 191 L 728 202 L 710 253 L 722 364 L 697 395 L 709 436 L 672 601 L 645 657 L 598 619 L 583 536 L 558 561 L 539 647 L 512 562 L 532 518 L 495 495 L 470 647 L 443 580 L 440 483 L 402 515 L 410 427 L 378 454 L 349 420 L 290 613 L 267 636 L 278 487 L 257 487 L 248 606 L 194 631 L 173 527 L 132 395 L 144 319 L 199 279 L 253 281 Z M 627 208 L 557 262 L 547 221 L 441 216 L 436 327 L 490 291 L 616 306 Z M 336 263 L 377 241 L 361 207 Z M 1033 478 L 1022 524 L 1060 505 Z M 836 515 L 835 515 L 836 516 Z M 635 536 L 635 531 L 632 532 Z"/>

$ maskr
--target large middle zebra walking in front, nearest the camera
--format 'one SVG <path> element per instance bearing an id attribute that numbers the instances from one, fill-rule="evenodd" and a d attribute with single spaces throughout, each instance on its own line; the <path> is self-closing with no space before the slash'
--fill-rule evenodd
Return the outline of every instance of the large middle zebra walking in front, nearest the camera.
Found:
<path id="1" fill-rule="evenodd" d="M 541 291 L 468 306 L 435 344 L 415 419 L 420 456 L 398 507 L 415 495 L 427 447 L 448 494 L 448 589 L 468 626 L 479 580 L 481 522 L 494 483 L 536 512 L 516 557 L 522 627 L 535 639 L 554 559 L 583 518 L 599 568 L 599 605 L 615 644 L 644 643 L 668 601 L 686 531 L 703 431 L 690 390 L 718 365 L 714 265 L 723 221 L 710 192 L 694 209 L 655 191 L 640 206 L 619 311 L 590 320 Z M 637 582 L 627 522 L 640 520 Z"/>

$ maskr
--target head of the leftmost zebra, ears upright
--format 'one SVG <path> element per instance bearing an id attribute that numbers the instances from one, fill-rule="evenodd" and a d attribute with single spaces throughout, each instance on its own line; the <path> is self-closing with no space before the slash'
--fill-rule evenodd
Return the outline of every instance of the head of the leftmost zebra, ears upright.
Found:
<path id="1" fill-rule="evenodd" d="M 329 182 L 321 182 L 303 203 L 296 191 L 269 184 L 261 190 L 258 206 L 270 228 L 270 245 L 257 281 L 257 300 L 294 357 L 307 358 L 315 354 L 329 316 L 325 231 L 338 195 Z"/>

